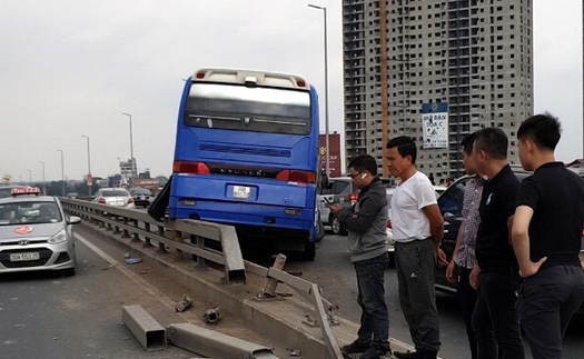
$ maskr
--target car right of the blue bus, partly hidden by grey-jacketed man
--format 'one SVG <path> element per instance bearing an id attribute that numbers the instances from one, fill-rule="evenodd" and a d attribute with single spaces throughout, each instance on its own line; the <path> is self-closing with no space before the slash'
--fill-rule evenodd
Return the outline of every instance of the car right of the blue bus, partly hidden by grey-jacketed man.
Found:
<path id="1" fill-rule="evenodd" d="M 337 218 L 330 213 L 326 205 L 348 208 L 357 201 L 357 189 L 353 187 L 353 181 L 349 177 L 335 177 L 328 179 L 327 182 L 327 186 L 317 196 L 320 221 L 324 226 L 329 226 L 334 235 L 346 235 L 347 231 L 340 226 Z"/>

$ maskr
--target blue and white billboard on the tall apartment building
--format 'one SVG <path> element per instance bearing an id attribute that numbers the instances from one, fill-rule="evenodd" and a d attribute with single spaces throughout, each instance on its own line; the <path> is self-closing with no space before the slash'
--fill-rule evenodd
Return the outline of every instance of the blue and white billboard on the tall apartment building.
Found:
<path id="1" fill-rule="evenodd" d="M 448 147 L 448 103 L 422 103 L 424 148 Z"/>

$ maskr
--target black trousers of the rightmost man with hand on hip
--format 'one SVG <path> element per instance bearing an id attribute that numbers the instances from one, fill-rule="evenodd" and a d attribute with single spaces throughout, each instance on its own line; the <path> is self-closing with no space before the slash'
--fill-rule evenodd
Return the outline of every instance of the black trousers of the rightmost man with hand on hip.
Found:
<path id="1" fill-rule="evenodd" d="M 562 358 L 562 339 L 583 300 L 582 268 L 551 266 L 523 280 L 521 321 L 534 359 Z"/>

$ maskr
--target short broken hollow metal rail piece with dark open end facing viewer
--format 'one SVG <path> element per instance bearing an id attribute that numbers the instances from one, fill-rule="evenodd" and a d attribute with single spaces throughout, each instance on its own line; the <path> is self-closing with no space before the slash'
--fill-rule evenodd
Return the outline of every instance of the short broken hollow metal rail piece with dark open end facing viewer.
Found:
<path id="1" fill-rule="evenodd" d="M 141 306 L 123 306 L 121 321 L 130 329 L 146 351 L 166 349 L 166 329 Z"/>

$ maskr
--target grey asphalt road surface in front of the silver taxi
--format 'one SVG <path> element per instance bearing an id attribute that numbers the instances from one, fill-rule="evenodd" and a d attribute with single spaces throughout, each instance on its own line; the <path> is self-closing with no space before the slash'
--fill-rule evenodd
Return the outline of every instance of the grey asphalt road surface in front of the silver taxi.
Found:
<path id="1" fill-rule="evenodd" d="M 121 323 L 123 305 L 141 305 L 162 326 L 184 320 L 82 243 L 76 252 L 75 277 L 0 276 L 0 358 L 195 357 L 176 347 L 145 351 Z"/>

